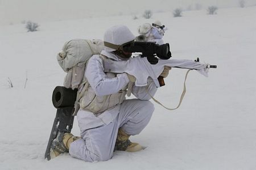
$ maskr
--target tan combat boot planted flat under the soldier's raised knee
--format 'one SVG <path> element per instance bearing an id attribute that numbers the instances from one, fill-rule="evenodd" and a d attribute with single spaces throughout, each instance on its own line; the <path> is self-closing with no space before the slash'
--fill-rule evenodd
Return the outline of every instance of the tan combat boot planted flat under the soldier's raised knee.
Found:
<path id="1" fill-rule="evenodd" d="M 139 143 L 131 142 L 129 137 L 130 135 L 119 129 L 117 134 L 117 141 L 115 142 L 115 150 L 127 152 L 137 152 L 142 150 L 142 146 L 139 145 Z"/>

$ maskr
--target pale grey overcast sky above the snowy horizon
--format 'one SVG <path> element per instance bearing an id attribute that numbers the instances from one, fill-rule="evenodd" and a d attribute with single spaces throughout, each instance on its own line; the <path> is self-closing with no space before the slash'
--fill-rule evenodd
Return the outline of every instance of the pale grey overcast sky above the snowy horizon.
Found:
<path id="1" fill-rule="evenodd" d="M 237 7 L 240 0 L 0 0 L 0 24 L 21 23 L 24 20 L 43 22 L 87 18 L 94 16 L 142 14 L 144 10 L 154 12 L 172 11 L 189 6 L 202 9 L 209 5 Z M 246 6 L 256 5 L 256 0 L 244 0 Z"/>

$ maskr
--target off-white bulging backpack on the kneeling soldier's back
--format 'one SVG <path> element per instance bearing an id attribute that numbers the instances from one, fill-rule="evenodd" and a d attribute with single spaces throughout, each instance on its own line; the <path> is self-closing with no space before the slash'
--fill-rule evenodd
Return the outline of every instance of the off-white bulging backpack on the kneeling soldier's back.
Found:
<path id="1" fill-rule="evenodd" d="M 104 49 L 102 40 L 75 39 L 65 42 L 63 49 L 57 54 L 60 67 L 67 73 L 64 87 L 78 88 L 84 78 L 86 62 L 94 54 L 100 54 Z"/>

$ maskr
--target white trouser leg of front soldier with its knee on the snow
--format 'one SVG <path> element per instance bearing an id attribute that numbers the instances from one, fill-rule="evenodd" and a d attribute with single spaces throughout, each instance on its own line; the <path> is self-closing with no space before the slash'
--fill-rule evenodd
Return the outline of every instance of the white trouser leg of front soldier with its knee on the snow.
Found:
<path id="1" fill-rule="evenodd" d="M 82 139 L 71 143 L 69 154 L 86 162 L 109 160 L 113 156 L 118 117 L 109 125 L 81 132 Z"/>

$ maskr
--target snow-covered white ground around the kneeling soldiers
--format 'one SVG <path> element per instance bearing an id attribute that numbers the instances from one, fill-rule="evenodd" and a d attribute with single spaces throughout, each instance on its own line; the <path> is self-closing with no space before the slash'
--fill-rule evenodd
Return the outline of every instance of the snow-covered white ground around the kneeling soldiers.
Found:
<path id="1" fill-rule="evenodd" d="M 187 11 L 152 19 L 131 16 L 0 27 L 0 169 L 256 169 L 256 7 L 225 8 L 217 15 Z M 131 137 L 147 148 L 117 151 L 107 162 L 86 163 L 61 155 L 44 160 L 56 109 L 51 95 L 65 73 L 56 54 L 71 39 L 102 39 L 106 28 L 125 24 L 134 35 L 138 25 L 159 19 L 169 29 L 172 57 L 216 64 L 205 78 L 192 71 L 187 94 L 175 111 L 155 104 L 150 124 Z M 175 107 L 185 70 L 172 69 L 156 99 Z M 26 82 L 26 88 L 24 88 Z M 9 87 L 8 78 L 13 83 Z M 153 102 L 153 101 L 152 101 Z M 75 120 L 72 133 L 79 135 Z"/>

